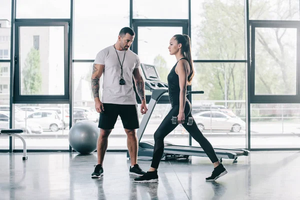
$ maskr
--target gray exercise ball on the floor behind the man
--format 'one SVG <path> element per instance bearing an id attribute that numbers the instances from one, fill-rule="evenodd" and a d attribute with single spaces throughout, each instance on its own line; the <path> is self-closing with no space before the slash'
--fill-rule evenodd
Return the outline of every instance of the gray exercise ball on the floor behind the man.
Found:
<path id="1" fill-rule="evenodd" d="M 76 122 L 69 130 L 69 144 L 77 152 L 88 154 L 97 148 L 100 128 L 90 120 Z"/>

